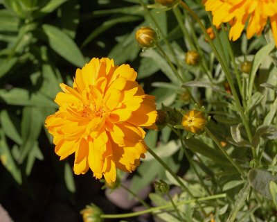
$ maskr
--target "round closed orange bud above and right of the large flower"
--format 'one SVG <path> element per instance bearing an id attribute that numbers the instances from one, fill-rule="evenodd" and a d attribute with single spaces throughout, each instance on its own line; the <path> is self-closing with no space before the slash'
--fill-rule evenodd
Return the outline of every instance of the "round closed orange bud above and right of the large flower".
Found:
<path id="1" fill-rule="evenodd" d="M 151 48 L 157 42 L 157 33 L 150 27 L 141 27 L 136 31 L 136 42 L 143 48 Z"/>

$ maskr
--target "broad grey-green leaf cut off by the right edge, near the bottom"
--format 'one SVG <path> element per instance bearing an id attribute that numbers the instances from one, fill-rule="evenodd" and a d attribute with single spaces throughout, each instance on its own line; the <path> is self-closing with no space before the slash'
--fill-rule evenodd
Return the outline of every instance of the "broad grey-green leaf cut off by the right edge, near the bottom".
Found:
<path id="1" fill-rule="evenodd" d="M 269 183 L 276 182 L 277 176 L 272 176 L 271 173 L 262 169 L 251 169 L 248 173 L 248 180 L 253 189 L 256 189 L 262 196 L 272 199 Z"/>

